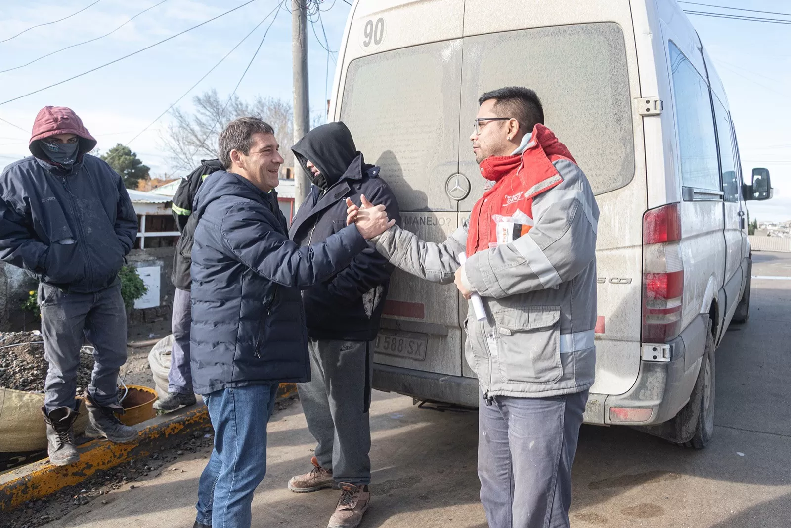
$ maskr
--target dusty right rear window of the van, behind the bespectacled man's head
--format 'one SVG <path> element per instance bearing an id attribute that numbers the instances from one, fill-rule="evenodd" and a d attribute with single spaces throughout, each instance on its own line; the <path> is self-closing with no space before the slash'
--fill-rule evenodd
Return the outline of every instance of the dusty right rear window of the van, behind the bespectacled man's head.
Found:
<path id="1" fill-rule="evenodd" d="M 613 22 L 491 33 L 464 39 L 462 123 L 478 97 L 502 86 L 536 90 L 544 119 L 601 194 L 634 177 L 626 44 Z M 462 147 L 462 159 L 472 158 Z"/>

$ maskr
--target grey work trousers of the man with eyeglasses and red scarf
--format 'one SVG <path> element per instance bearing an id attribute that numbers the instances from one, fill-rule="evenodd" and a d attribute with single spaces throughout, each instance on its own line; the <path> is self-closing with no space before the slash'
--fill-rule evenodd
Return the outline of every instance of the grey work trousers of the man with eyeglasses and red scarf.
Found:
<path id="1" fill-rule="evenodd" d="M 479 397 L 478 477 L 490 528 L 568 528 L 571 466 L 588 391 Z"/>

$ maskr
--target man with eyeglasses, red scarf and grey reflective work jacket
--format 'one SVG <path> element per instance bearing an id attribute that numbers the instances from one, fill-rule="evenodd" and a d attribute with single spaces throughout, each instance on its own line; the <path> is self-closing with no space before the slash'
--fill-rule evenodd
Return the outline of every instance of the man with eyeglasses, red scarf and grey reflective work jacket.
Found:
<path id="1" fill-rule="evenodd" d="M 573 156 L 543 125 L 532 89 L 484 93 L 470 136 L 490 185 L 441 244 L 392 226 L 377 250 L 395 266 L 455 282 L 478 375 L 478 475 L 493 528 L 569 526 L 571 466 L 593 384 L 599 209 Z M 348 221 L 384 215 L 352 203 Z M 466 257 L 466 258 L 465 258 Z"/>

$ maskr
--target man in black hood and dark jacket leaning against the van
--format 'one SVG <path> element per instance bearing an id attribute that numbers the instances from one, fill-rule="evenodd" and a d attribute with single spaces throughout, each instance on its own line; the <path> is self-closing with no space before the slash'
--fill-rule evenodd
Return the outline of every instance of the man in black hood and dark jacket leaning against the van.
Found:
<path id="1" fill-rule="evenodd" d="M 291 149 L 313 185 L 289 235 L 300 245 L 327 240 L 346 226 L 346 199 L 361 195 L 399 221 L 399 207 L 380 168 L 365 163 L 344 123 L 309 131 Z M 341 271 L 302 294 L 312 379 L 297 386 L 316 439 L 313 469 L 289 482 L 293 492 L 342 489 L 330 528 L 357 526 L 371 481 L 369 403 L 373 343 L 388 294 L 392 264 L 373 245 Z"/>

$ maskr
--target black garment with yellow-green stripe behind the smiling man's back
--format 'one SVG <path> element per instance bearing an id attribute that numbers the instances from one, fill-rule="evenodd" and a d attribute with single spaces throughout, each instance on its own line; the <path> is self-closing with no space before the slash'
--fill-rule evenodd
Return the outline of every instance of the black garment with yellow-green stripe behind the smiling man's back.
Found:
<path id="1" fill-rule="evenodd" d="M 173 255 L 173 272 L 170 276 L 173 286 L 181 290 L 189 290 L 192 282 L 190 267 L 192 265 L 192 241 L 195 239 L 195 227 L 198 226 L 198 216 L 192 215 L 192 203 L 198 194 L 203 180 L 211 173 L 222 170 L 220 160 L 201 160 L 200 166 L 193 170 L 189 176 L 181 180 L 176 194 L 173 195 L 173 218 L 179 228 L 181 237 L 176 244 L 176 253 Z"/>

